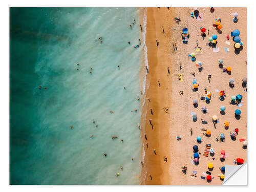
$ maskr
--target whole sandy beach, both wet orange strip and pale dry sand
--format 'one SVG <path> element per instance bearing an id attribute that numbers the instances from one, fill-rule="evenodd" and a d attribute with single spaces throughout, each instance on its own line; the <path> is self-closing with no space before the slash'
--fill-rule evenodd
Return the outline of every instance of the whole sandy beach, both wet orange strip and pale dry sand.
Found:
<path id="1" fill-rule="evenodd" d="M 246 77 L 246 8 L 215 8 L 213 13 L 210 8 L 198 8 L 202 20 L 190 17 L 194 8 L 146 8 L 146 47 L 148 59 L 148 74 L 146 77 L 147 89 L 145 92 L 145 104 L 142 113 L 146 114 L 141 118 L 142 154 L 145 153 L 144 166 L 142 168 L 141 184 L 153 185 L 220 185 L 223 181 L 217 177 L 221 174 L 219 169 L 224 164 L 234 165 L 233 160 L 243 158 L 246 162 L 246 150 L 242 148 L 239 139 L 246 140 L 246 93 L 242 88 L 242 78 Z M 231 13 L 238 12 L 238 23 L 233 22 Z M 180 17 L 181 22 L 176 23 L 174 18 Z M 218 33 L 214 24 L 216 18 L 221 18 L 222 33 Z M 164 27 L 164 33 L 163 28 Z M 200 28 L 206 28 L 206 37 L 203 40 Z M 190 37 L 188 44 L 182 44 L 182 29 L 188 28 Z M 234 53 L 234 42 L 230 32 L 240 30 L 240 37 L 244 42 L 243 50 Z M 209 30 L 209 35 L 208 31 Z M 219 52 L 206 45 L 208 38 L 217 34 L 217 48 Z M 226 35 L 230 45 L 225 43 Z M 157 47 L 157 42 L 159 47 Z M 201 47 L 196 51 L 195 47 Z M 173 45 L 177 45 L 177 50 Z M 229 48 L 229 52 L 224 49 Z M 188 54 L 196 53 L 196 62 L 203 63 L 203 70 L 200 72 L 196 62 L 191 61 Z M 219 60 L 223 60 L 223 67 L 231 67 L 231 75 L 222 72 L 219 67 Z M 181 64 L 181 65 L 180 65 Z M 180 69 L 181 66 L 181 69 Z M 169 67 L 168 74 L 167 68 Z M 193 92 L 193 75 L 197 78 L 199 89 Z M 178 80 L 179 74 L 183 75 L 183 82 Z M 208 75 L 211 75 L 210 82 Z M 234 88 L 229 87 L 229 79 L 235 80 Z M 160 86 L 159 83 L 160 82 Z M 204 89 L 211 92 L 210 103 L 200 100 L 204 97 Z M 224 101 L 219 99 L 219 93 L 215 90 L 224 90 L 226 97 Z M 183 91 L 183 95 L 179 92 Z M 230 97 L 241 94 L 243 96 L 242 106 L 229 104 Z M 150 101 L 148 100 L 150 99 Z M 198 100 L 198 107 L 193 106 L 193 100 Z M 220 106 L 226 106 L 225 115 L 220 114 Z M 206 106 L 208 113 L 203 114 L 201 109 Z M 168 113 L 164 109 L 168 108 Z M 151 109 L 153 114 L 151 113 Z M 241 110 L 241 119 L 234 117 L 234 111 Z M 191 113 L 197 114 L 197 121 L 194 122 Z M 216 128 L 212 123 L 212 116 L 217 115 L 219 123 Z M 208 124 L 202 124 L 200 119 L 205 119 Z M 152 121 L 152 125 L 149 120 Z M 229 129 L 224 129 L 224 122 L 229 122 Z M 193 135 L 190 134 L 193 129 Z M 203 135 L 201 129 L 211 131 L 211 136 Z M 230 139 L 229 132 L 235 128 L 239 134 L 235 141 Z M 225 134 L 225 142 L 216 141 L 220 133 Z M 147 140 L 145 139 L 145 135 Z M 177 141 L 176 136 L 182 136 Z M 202 143 L 197 143 L 197 136 L 202 137 Z M 148 147 L 146 146 L 146 143 Z M 191 164 L 193 158 L 193 145 L 197 144 L 201 153 L 199 165 Z M 211 144 L 215 148 L 215 159 L 203 156 L 205 144 Z M 156 155 L 154 153 L 156 150 Z M 225 150 L 228 154 L 224 162 L 220 161 L 220 151 Z M 167 158 L 167 162 L 164 161 Z M 208 170 L 207 164 L 213 163 L 214 169 L 211 176 L 214 177 L 210 183 L 201 179 L 202 173 Z M 181 171 L 183 165 L 187 166 L 186 175 Z M 193 168 L 197 169 L 197 177 L 190 177 Z M 150 175 L 151 174 L 151 175 Z M 152 179 L 151 179 L 151 177 Z"/>

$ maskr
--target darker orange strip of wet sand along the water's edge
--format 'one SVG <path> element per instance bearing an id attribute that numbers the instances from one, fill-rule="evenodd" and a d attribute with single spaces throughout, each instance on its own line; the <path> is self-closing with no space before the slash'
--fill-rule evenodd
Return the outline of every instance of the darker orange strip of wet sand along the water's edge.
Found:
<path id="1" fill-rule="evenodd" d="M 146 8 L 145 46 L 147 48 L 148 74 L 146 74 L 146 90 L 144 105 L 142 106 L 143 116 L 141 116 L 141 156 L 143 157 L 144 154 L 145 156 L 144 159 L 142 158 L 144 166 L 141 170 L 140 184 L 160 185 L 169 184 L 169 163 L 163 161 L 164 157 L 169 159 L 169 148 L 167 147 L 169 146 L 169 129 L 162 130 L 161 127 L 167 126 L 169 128 L 169 114 L 166 114 L 162 109 L 165 106 L 170 107 L 170 95 L 165 90 L 172 90 L 172 88 L 170 87 L 170 79 L 163 78 L 165 75 L 168 76 L 167 67 L 170 67 L 170 58 L 168 56 L 164 57 L 164 53 L 168 51 L 169 47 L 168 41 L 164 40 L 169 25 L 167 22 L 164 24 L 166 27 L 165 34 L 156 30 L 156 21 L 159 22 L 159 18 L 162 18 L 163 15 L 169 15 L 170 11 L 167 8 L 160 14 L 156 14 L 156 11 L 158 11 L 158 8 Z M 159 36 L 159 44 L 161 42 L 159 48 L 156 46 L 156 36 Z M 146 69 L 144 70 L 146 71 Z M 171 67 L 170 70 L 172 70 Z M 158 79 L 161 87 L 159 87 Z M 148 98 L 150 98 L 150 101 L 148 101 Z M 153 115 L 150 109 L 153 110 Z M 152 119 L 154 129 L 148 122 L 150 119 Z M 160 140 L 162 141 L 159 142 Z M 157 155 L 154 154 L 154 149 Z M 152 180 L 149 174 L 152 174 Z"/>

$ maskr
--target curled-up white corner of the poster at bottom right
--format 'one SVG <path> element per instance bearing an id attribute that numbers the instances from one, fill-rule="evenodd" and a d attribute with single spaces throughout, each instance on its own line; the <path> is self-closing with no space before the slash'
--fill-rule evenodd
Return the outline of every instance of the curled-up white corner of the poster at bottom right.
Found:
<path id="1" fill-rule="evenodd" d="M 242 165 L 225 165 L 223 185 L 247 185 L 247 163 Z"/>

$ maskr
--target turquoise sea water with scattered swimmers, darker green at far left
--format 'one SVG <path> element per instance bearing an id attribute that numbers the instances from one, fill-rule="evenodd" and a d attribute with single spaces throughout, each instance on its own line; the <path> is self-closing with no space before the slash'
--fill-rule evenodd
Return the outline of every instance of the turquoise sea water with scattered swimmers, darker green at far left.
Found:
<path id="1" fill-rule="evenodd" d="M 10 8 L 10 184 L 139 184 L 138 13 Z"/>

